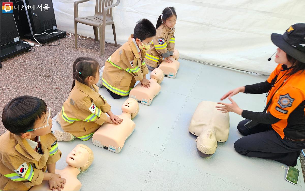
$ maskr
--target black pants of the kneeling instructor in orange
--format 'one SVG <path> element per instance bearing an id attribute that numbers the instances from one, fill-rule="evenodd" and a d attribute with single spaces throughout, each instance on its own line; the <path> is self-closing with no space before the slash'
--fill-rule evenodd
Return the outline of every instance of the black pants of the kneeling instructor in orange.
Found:
<path id="1" fill-rule="evenodd" d="M 290 142 L 283 140 L 270 124 L 258 124 L 247 130 L 244 124 L 248 119 L 239 122 L 237 129 L 245 137 L 235 141 L 235 150 L 242 155 L 272 159 L 290 166 L 296 166 L 304 142 Z"/>

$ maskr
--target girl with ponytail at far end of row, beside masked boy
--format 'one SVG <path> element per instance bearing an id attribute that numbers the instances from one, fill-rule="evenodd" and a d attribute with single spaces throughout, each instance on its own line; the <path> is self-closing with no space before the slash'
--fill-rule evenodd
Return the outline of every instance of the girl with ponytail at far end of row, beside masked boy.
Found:
<path id="1" fill-rule="evenodd" d="M 145 64 L 150 70 L 157 68 L 163 58 L 167 62 L 172 62 L 170 56 L 173 56 L 175 48 L 174 26 L 176 20 L 177 14 L 174 7 L 165 8 L 159 16 L 156 24 L 157 34 L 145 56 Z"/>

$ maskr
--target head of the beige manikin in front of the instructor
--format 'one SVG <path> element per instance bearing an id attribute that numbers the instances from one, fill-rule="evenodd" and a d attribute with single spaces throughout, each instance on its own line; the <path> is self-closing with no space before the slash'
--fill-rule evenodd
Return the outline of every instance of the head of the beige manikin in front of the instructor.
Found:
<path id="1" fill-rule="evenodd" d="M 202 157 L 212 156 L 217 148 L 217 141 L 213 129 L 204 129 L 196 139 L 197 152 Z"/>

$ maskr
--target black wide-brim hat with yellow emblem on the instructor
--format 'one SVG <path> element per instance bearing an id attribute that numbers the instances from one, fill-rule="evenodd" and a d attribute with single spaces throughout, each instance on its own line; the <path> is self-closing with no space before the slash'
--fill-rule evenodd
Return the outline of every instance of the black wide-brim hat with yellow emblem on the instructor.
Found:
<path id="1" fill-rule="evenodd" d="M 272 33 L 271 41 L 290 56 L 305 63 L 305 23 L 291 25 L 283 35 Z"/>

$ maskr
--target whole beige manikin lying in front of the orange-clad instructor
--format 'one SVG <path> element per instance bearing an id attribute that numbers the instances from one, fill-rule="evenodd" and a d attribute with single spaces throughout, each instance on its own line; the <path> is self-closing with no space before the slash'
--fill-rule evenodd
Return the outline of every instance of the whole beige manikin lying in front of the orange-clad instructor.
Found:
<path id="1" fill-rule="evenodd" d="M 218 111 L 212 101 L 202 101 L 198 104 L 188 131 L 197 137 L 197 152 L 202 157 L 213 155 L 218 142 L 225 142 L 229 136 L 229 113 Z"/>

